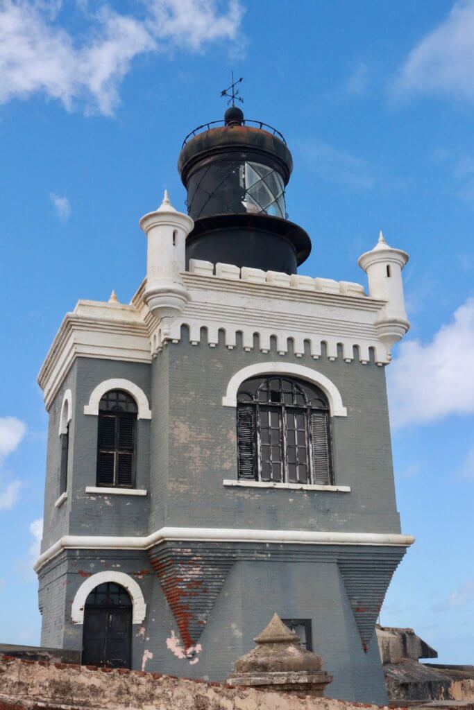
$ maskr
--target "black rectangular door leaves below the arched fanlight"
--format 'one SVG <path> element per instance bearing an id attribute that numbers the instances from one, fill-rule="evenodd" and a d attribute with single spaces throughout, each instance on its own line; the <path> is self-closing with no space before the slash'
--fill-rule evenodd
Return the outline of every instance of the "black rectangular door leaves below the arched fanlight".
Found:
<path id="1" fill-rule="evenodd" d="M 85 608 L 83 665 L 131 667 L 131 608 Z"/>

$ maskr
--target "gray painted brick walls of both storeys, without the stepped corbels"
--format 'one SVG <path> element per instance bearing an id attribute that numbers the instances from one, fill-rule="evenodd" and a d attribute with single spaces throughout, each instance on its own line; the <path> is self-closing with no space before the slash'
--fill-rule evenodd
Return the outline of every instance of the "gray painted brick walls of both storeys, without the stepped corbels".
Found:
<path id="1" fill-rule="evenodd" d="M 335 479 L 351 486 L 350 493 L 222 486 L 223 479 L 237 478 L 235 409 L 222 407 L 227 383 L 249 364 L 273 361 L 313 368 L 338 387 L 348 417 L 334 417 L 332 422 Z M 139 420 L 137 428 L 136 485 L 146 488 L 146 497 L 85 493 L 86 486 L 95 486 L 97 417 L 84 415 L 84 405 L 95 386 L 109 378 L 129 379 L 149 398 L 153 418 Z M 58 417 L 67 388 L 74 403 L 68 500 L 54 508 Z M 239 344 L 229 351 L 222 342 L 210 348 L 205 338 L 191 346 L 187 337 L 168 344 L 151 366 L 78 359 L 50 408 L 47 469 L 43 550 L 61 535 L 139 536 L 164 525 L 400 530 L 384 368 L 373 362 L 363 366 L 324 356 L 313 360 L 308 353 L 281 357 L 276 351 L 245 352 Z M 372 642 L 367 653 L 362 648 L 334 548 L 325 547 L 321 555 L 311 557 L 309 547 L 314 549 L 299 546 L 298 552 L 296 546 L 293 557 L 287 550 L 271 562 L 265 555 L 234 559 L 200 636 L 202 650 L 190 658 L 178 657 L 182 643 L 176 618 L 147 552 L 68 550 L 40 573 L 42 643 L 80 649 L 82 626 L 71 621 L 72 599 L 90 574 L 116 569 L 139 582 L 147 603 L 144 624 L 133 628 L 135 668 L 145 659 L 146 670 L 223 679 L 277 611 L 283 618 L 311 618 L 315 650 L 323 655 L 325 670 L 335 675 L 331 695 L 382 703 L 386 697 L 377 644 Z"/>

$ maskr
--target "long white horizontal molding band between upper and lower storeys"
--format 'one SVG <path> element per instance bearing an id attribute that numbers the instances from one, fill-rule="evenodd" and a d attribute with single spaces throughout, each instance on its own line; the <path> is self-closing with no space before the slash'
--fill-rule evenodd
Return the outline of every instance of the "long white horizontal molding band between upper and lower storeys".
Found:
<path id="1" fill-rule="evenodd" d="M 36 560 L 38 572 L 63 550 L 148 550 L 161 542 L 262 542 L 276 545 L 388 545 L 407 547 L 415 538 L 397 532 L 320 532 L 314 530 L 252 530 L 249 528 L 161 528 L 146 537 L 63 535 Z"/>

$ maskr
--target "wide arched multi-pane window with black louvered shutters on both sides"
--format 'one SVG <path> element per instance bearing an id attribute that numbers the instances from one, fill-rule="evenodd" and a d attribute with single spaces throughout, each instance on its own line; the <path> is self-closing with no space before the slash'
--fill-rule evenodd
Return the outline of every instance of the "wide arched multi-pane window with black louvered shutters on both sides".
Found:
<path id="1" fill-rule="evenodd" d="M 237 393 L 239 479 L 330 485 L 328 400 L 293 378 L 255 377 Z"/>

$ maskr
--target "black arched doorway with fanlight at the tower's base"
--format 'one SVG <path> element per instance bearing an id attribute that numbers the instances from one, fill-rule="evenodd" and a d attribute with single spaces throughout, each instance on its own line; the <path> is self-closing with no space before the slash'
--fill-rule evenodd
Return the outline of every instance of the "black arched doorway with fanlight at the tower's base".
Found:
<path id="1" fill-rule="evenodd" d="M 82 664 L 131 667 L 130 595 L 123 586 L 106 581 L 92 589 L 84 608 Z"/>

